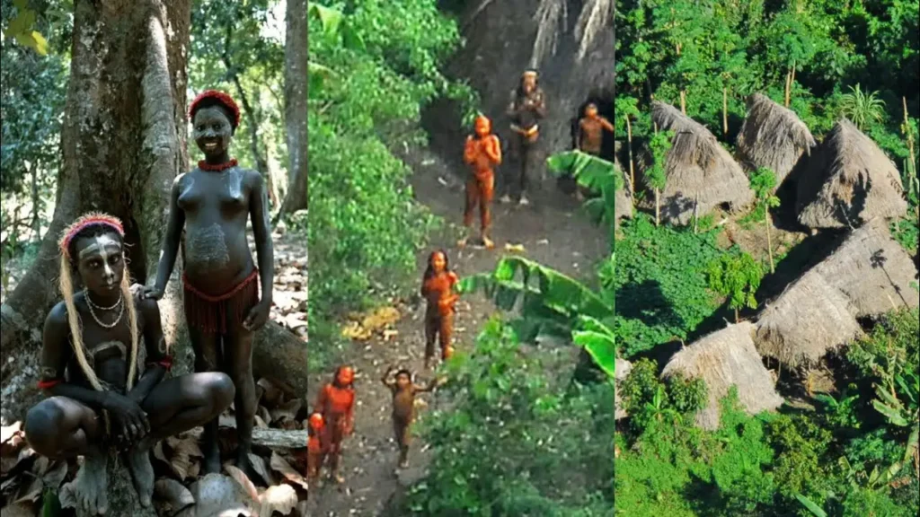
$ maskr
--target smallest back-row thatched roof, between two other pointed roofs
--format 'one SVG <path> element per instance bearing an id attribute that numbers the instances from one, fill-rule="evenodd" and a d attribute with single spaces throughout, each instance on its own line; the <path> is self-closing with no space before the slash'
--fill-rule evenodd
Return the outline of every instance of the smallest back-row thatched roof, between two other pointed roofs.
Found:
<path id="1" fill-rule="evenodd" d="M 795 111 L 755 93 L 748 98 L 748 114 L 737 144 L 742 164 L 752 170 L 769 168 L 776 173 L 778 186 L 817 143 Z"/>

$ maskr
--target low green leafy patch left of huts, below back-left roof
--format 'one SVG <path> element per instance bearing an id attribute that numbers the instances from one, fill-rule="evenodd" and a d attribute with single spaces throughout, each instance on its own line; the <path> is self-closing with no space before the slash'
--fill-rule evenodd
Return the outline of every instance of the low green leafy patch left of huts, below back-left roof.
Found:
<path id="1" fill-rule="evenodd" d="M 720 230 L 694 234 L 687 228 L 656 227 L 644 214 L 622 226 L 616 267 L 599 272 L 603 297 L 616 300 L 615 334 L 627 357 L 661 343 L 686 339 L 711 316 L 707 265 L 722 251 Z"/>

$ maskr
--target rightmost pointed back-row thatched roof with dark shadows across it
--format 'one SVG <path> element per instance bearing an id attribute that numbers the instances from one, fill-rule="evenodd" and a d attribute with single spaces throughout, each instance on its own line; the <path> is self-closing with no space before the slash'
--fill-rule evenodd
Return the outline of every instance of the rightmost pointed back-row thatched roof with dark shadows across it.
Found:
<path id="1" fill-rule="evenodd" d="M 799 223 L 844 228 L 907 213 L 901 173 L 880 147 L 845 119 L 811 155 L 799 181 Z"/>

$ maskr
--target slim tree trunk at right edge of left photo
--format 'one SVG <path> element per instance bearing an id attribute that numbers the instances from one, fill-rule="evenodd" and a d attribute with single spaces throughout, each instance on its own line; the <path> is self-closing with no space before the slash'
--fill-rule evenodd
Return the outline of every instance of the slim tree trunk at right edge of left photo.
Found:
<path id="1" fill-rule="evenodd" d="M 307 208 L 306 171 L 306 0 L 288 0 L 284 42 L 284 120 L 288 140 L 288 191 L 278 212 Z"/>

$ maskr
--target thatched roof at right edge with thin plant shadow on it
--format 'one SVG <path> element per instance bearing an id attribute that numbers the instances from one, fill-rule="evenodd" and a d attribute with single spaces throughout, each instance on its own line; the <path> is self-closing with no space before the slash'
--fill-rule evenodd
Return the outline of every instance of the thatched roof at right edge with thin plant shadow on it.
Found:
<path id="1" fill-rule="evenodd" d="M 914 260 L 891 237 L 883 219 L 851 232 L 814 270 L 845 294 L 857 317 L 920 305 L 920 293 L 911 285 L 916 275 Z"/>

